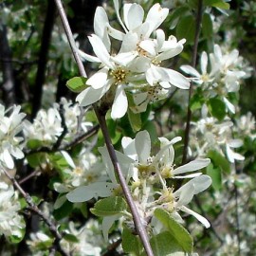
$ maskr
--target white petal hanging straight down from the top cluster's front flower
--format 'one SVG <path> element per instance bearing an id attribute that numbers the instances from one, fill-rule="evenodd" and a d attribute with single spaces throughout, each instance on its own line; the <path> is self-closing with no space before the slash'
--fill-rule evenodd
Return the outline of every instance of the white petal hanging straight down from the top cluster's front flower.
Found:
<path id="1" fill-rule="evenodd" d="M 119 85 L 116 91 L 115 99 L 111 109 L 111 118 L 120 119 L 127 112 L 128 101 L 122 85 Z"/>

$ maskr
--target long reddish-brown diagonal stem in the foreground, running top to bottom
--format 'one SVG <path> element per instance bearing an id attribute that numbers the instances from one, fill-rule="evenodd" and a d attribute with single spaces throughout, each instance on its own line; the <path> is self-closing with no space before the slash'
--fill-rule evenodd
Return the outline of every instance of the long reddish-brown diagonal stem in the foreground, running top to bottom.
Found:
<path id="1" fill-rule="evenodd" d="M 61 0 L 55 0 L 55 3 L 56 3 L 57 8 L 59 9 L 59 13 L 60 13 L 63 25 L 64 25 L 64 30 L 65 30 L 69 45 L 71 46 L 74 58 L 75 58 L 75 60 L 78 64 L 80 74 L 81 74 L 82 77 L 86 77 L 86 72 L 84 70 L 82 61 L 81 61 L 80 56 L 78 54 L 78 50 L 77 50 L 77 47 L 75 45 L 73 35 L 72 35 L 71 29 L 69 27 L 65 12 L 64 12 L 64 7 L 62 5 L 62 1 Z M 149 238 L 148 238 L 146 229 L 145 229 L 145 227 L 143 226 L 143 224 L 141 222 L 140 216 L 139 216 L 138 211 L 137 211 L 136 204 L 133 200 L 131 192 L 129 191 L 128 185 L 126 184 L 125 178 L 124 178 L 124 176 L 121 172 L 119 161 L 118 161 L 114 146 L 112 144 L 111 138 L 110 138 L 109 133 L 108 133 L 106 120 L 105 120 L 105 115 L 102 115 L 95 105 L 94 105 L 94 111 L 96 112 L 97 118 L 99 120 L 101 131 L 102 131 L 102 134 L 104 136 L 104 139 L 105 139 L 105 142 L 106 142 L 106 147 L 107 147 L 108 153 L 110 155 L 110 158 L 112 160 L 115 172 L 119 176 L 119 182 L 120 182 L 120 185 L 122 187 L 124 196 L 125 196 L 125 198 L 127 200 L 127 203 L 128 203 L 128 205 L 131 209 L 131 212 L 132 212 L 132 215 L 133 215 L 133 218 L 134 218 L 134 222 L 135 222 L 135 227 L 137 229 L 137 233 L 138 233 L 138 235 L 141 239 L 141 242 L 143 244 L 143 247 L 145 248 L 145 251 L 146 251 L 147 255 L 154 256 L 153 250 L 152 250 L 152 248 L 150 246 L 150 243 L 149 243 Z"/>

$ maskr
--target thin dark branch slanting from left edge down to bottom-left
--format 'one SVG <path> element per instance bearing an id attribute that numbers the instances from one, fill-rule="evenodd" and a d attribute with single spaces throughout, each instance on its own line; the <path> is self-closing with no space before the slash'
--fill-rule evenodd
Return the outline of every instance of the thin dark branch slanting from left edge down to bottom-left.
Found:
<path id="1" fill-rule="evenodd" d="M 43 211 L 41 211 L 37 205 L 34 203 L 32 197 L 29 195 L 29 193 L 25 192 L 22 187 L 20 186 L 20 184 L 17 182 L 17 180 L 12 177 L 11 175 L 9 175 L 9 173 L 3 169 L 4 173 L 9 177 L 9 180 L 12 182 L 13 186 L 22 194 L 22 196 L 25 198 L 27 205 L 28 205 L 28 209 L 33 211 L 34 213 L 36 213 L 37 215 L 39 215 L 43 221 L 46 223 L 46 225 L 48 226 L 50 232 L 52 233 L 52 235 L 55 237 L 54 240 L 54 245 L 55 248 L 61 253 L 61 255 L 63 256 L 69 256 L 69 253 L 65 252 L 64 249 L 61 247 L 60 242 L 63 238 L 64 233 L 60 233 L 59 230 L 57 229 L 57 227 L 55 226 L 55 224 L 53 222 L 51 222 L 51 220 L 44 214 Z"/>

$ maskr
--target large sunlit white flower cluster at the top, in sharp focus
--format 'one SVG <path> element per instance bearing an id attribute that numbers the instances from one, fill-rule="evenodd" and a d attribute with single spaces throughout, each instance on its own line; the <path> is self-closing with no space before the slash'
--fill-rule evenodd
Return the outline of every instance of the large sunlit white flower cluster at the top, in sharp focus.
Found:
<path id="1" fill-rule="evenodd" d="M 155 4 L 144 20 L 140 5 L 124 4 L 122 21 L 119 1 L 115 0 L 114 5 L 124 32 L 110 26 L 103 8 L 96 10 L 95 34 L 89 36 L 96 57 L 82 51 L 80 54 L 84 60 L 100 64 L 100 70 L 87 80 L 88 87 L 77 101 L 86 106 L 101 100 L 104 106 L 112 105 L 112 119 L 119 119 L 128 107 L 135 113 L 143 112 L 149 102 L 166 97 L 172 85 L 188 89 L 190 82 L 177 71 L 162 66 L 163 61 L 179 54 L 185 43 L 174 36 L 166 39 L 164 31 L 158 28 L 168 9 Z M 111 38 L 120 42 L 118 52 L 112 48 Z"/>

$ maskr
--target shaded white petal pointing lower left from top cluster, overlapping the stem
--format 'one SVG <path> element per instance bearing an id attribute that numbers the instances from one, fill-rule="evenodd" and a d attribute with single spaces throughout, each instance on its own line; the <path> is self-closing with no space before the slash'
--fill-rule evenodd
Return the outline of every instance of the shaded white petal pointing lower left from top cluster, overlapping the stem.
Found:
<path id="1" fill-rule="evenodd" d="M 106 84 L 100 89 L 88 87 L 77 96 L 76 101 L 79 101 L 81 106 L 91 105 L 96 101 L 99 101 L 102 96 L 108 91 L 109 87 L 110 84 Z"/>

